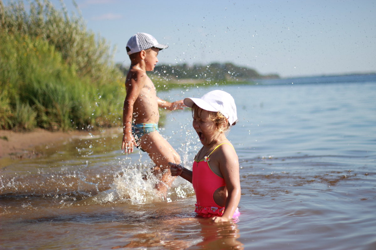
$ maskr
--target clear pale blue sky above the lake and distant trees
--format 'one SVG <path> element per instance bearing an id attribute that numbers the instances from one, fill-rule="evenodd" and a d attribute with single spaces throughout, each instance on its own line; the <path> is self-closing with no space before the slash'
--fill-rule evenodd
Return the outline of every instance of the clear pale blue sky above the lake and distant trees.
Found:
<path id="1" fill-rule="evenodd" d="M 7 1 L 5 1 L 6 3 Z M 52 0 L 56 7 L 58 0 Z M 65 0 L 74 10 L 71 0 Z M 87 27 L 116 46 L 136 32 L 169 45 L 159 63 L 232 62 L 282 77 L 376 72 L 376 1 L 76 0 Z"/>

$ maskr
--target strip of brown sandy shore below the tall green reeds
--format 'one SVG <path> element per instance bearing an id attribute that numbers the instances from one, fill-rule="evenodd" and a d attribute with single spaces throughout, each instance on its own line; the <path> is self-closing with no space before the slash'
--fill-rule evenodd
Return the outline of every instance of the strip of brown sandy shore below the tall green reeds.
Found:
<path id="1" fill-rule="evenodd" d="M 105 132 L 114 132 L 118 128 L 106 129 Z M 120 130 L 119 130 L 120 131 Z M 92 134 L 105 133 L 104 131 L 90 132 Z M 30 159 L 41 156 L 35 150 L 38 146 L 51 146 L 70 138 L 87 136 L 88 131 L 51 132 L 44 129 L 34 129 L 32 132 L 14 132 L 0 130 L 0 159 Z"/>

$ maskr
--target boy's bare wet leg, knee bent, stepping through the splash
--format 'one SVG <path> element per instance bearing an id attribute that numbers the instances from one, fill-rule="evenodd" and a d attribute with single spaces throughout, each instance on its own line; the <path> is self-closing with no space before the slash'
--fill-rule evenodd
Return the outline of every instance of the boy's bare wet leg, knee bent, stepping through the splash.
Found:
<path id="1" fill-rule="evenodd" d="M 140 139 L 141 148 L 145 150 L 157 167 L 161 168 L 161 183 L 157 185 L 161 192 L 167 191 L 174 180 L 168 162 L 180 164 L 180 156 L 158 131 L 147 133 Z"/>

